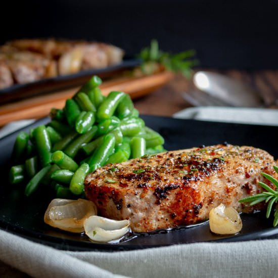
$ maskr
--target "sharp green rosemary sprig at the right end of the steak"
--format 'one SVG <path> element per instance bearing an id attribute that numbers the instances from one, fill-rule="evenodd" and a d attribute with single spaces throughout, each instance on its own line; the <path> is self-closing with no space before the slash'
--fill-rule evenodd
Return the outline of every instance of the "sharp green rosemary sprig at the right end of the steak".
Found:
<path id="1" fill-rule="evenodd" d="M 278 173 L 278 167 L 273 166 L 276 173 Z M 278 201 L 278 180 L 274 178 L 273 176 L 261 173 L 265 178 L 267 178 L 269 181 L 271 181 L 274 186 L 276 187 L 276 191 L 270 188 L 267 184 L 264 182 L 259 181 L 259 184 L 262 188 L 264 188 L 266 191 L 260 194 L 256 194 L 250 197 L 243 198 L 239 200 L 240 203 L 250 203 L 251 206 L 258 204 L 260 202 L 268 203 L 267 210 L 266 210 L 266 218 L 270 216 L 270 212 L 272 210 L 273 204 L 277 203 Z M 278 224 L 278 208 L 274 209 L 274 220 L 273 220 L 273 226 L 277 226 Z"/>

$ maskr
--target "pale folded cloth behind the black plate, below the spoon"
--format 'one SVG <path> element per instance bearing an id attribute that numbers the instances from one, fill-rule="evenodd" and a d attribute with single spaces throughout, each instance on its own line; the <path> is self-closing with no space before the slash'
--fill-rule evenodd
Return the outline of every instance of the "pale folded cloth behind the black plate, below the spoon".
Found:
<path id="1" fill-rule="evenodd" d="M 174 118 L 247 124 L 278 125 L 278 110 L 266 108 L 242 108 L 199 106 L 181 110 Z"/>

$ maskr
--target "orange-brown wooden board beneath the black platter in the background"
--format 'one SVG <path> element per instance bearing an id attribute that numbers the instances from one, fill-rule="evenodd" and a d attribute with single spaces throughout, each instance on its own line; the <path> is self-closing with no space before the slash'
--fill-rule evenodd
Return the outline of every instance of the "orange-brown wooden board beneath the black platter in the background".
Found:
<path id="1" fill-rule="evenodd" d="M 107 96 L 110 91 L 120 90 L 130 95 L 131 99 L 145 96 L 173 78 L 173 73 L 163 71 L 142 77 L 120 77 L 103 82 L 100 86 Z M 0 106 L 0 126 L 11 121 L 33 119 L 47 116 L 51 108 L 63 108 L 65 101 L 71 98 L 79 87 L 55 91 L 47 95 L 36 96 L 18 102 Z"/>

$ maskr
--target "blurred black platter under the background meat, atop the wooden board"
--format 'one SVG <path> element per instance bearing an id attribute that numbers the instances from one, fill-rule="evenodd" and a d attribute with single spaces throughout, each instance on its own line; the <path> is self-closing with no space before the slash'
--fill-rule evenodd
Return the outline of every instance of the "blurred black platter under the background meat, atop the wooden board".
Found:
<path id="1" fill-rule="evenodd" d="M 15 84 L 0 90 L 0 101 L 3 104 L 11 100 L 14 101 L 45 92 L 78 86 L 84 84 L 92 75 L 98 75 L 101 78 L 106 78 L 138 66 L 140 63 L 141 61 L 138 59 L 126 58 L 120 64 L 106 68 L 83 70 L 74 74 L 45 78 L 25 84 Z"/>

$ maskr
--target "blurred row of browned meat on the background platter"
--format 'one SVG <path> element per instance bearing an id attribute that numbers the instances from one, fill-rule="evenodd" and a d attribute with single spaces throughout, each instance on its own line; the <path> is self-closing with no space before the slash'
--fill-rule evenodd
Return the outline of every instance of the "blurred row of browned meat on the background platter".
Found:
<path id="1" fill-rule="evenodd" d="M 123 55 L 120 48 L 101 42 L 13 40 L 0 46 L 0 88 L 14 83 L 28 83 L 81 70 L 108 67 L 121 63 Z"/>

